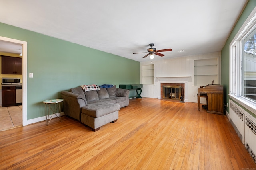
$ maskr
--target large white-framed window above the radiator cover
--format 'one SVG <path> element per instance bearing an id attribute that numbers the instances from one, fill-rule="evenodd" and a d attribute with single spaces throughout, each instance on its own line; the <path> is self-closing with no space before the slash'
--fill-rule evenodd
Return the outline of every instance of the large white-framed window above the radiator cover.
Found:
<path id="1" fill-rule="evenodd" d="M 229 96 L 256 114 L 256 8 L 230 43 Z"/>

